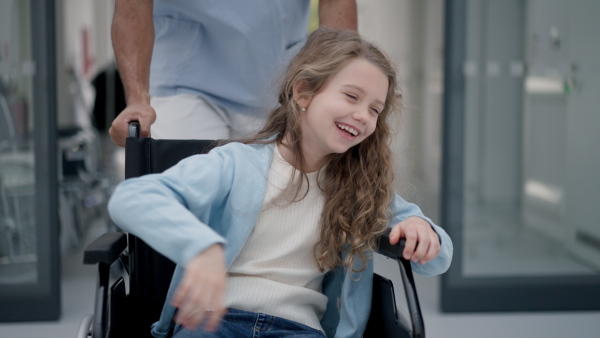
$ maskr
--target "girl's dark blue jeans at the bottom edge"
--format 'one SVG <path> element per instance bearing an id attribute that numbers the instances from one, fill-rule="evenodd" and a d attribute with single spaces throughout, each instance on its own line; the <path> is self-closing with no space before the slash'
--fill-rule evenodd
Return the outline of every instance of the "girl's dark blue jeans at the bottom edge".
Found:
<path id="1" fill-rule="evenodd" d="M 181 328 L 173 338 L 324 338 L 325 334 L 312 327 L 264 313 L 229 309 L 216 332 Z"/>

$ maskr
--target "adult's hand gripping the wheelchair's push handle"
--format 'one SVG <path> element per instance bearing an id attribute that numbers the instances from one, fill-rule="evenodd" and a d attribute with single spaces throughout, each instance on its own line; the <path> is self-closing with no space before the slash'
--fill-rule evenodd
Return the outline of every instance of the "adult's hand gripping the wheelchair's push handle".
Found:
<path id="1" fill-rule="evenodd" d="M 150 137 L 150 125 L 156 121 L 156 112 L 148 103 L 135 103 L 127 105 L 113 121 L 108 133 L 114 144 L 124 147 L 127 138 L 129 123 L 140 123 L 140 137 Z"/>

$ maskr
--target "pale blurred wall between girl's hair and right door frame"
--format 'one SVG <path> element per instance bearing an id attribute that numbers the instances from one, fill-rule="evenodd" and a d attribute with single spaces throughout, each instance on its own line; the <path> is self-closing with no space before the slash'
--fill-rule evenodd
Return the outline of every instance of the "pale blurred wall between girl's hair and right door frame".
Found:
<path id="1" fill-rule="evenodd" d="M 359 31 L 398 68 L 405 109 L 396 138 L 396 187 L 437 218 L 443 83 L 443 0 L 358 0 Z"/>

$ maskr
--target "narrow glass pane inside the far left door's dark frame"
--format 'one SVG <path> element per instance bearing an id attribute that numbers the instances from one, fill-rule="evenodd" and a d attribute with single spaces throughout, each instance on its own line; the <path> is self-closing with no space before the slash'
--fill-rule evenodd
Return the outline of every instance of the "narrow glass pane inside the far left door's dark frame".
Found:
<path id="1" fill-rule="evenodd" d="M 0 287 L 35 284 L 35 163 L 29 2 L 0 2 Z"/>

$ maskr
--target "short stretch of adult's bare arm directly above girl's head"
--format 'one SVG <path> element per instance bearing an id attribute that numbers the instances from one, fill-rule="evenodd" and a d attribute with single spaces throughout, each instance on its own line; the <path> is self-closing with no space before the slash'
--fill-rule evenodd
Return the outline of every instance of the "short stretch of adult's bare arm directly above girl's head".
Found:
<path id="1" fill-rule="evenodd" d="M 356 0 L 320 0 L 319 26 L 357 30 Z"/>

